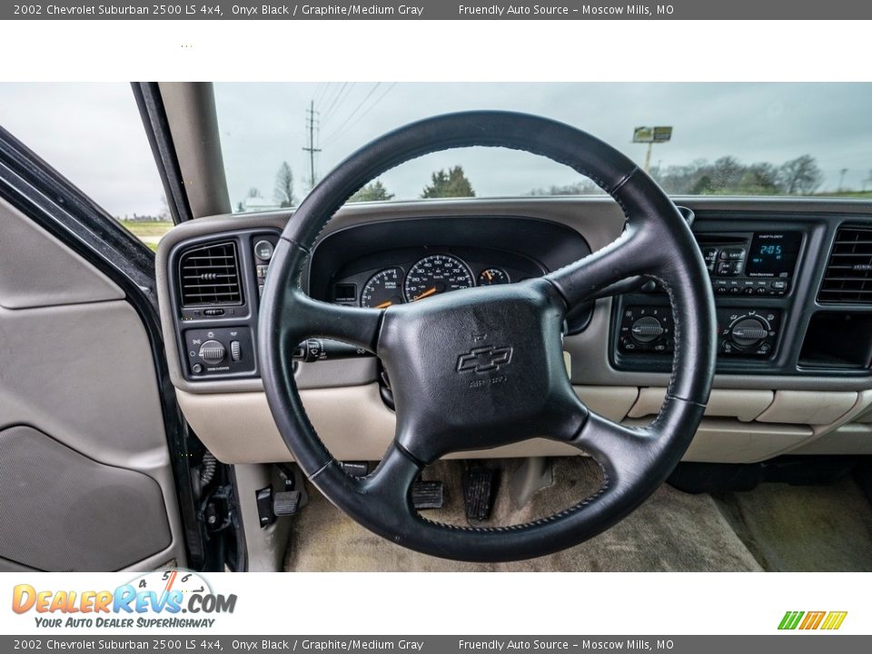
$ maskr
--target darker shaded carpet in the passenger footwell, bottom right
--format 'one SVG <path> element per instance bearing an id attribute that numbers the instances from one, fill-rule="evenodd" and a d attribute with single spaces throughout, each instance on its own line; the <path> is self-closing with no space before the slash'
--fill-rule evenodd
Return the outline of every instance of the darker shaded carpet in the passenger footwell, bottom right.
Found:
<path id="1" fill-rule="evenodd" d="M 872 570 L 872 508 L 849 479 L 830 486 L 762 484 L 717 500 L 765 570 Z"/>

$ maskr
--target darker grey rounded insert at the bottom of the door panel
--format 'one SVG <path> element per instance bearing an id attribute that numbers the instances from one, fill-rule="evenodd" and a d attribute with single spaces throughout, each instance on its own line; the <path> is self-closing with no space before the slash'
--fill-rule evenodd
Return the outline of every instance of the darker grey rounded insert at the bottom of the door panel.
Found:
<path id="1" fill-rule="evenodd" d="M 10 559 L 38 570 L 119 570 L 170 545 L 161 487 L 142 472 L 25 425 L 0 430 L 0 461 L 0 497 L 14 498 L 0 529 Z"/>

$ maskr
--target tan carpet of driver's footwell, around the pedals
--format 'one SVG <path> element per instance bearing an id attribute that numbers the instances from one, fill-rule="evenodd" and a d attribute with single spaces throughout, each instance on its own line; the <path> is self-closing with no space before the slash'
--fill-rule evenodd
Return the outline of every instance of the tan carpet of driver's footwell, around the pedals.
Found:
<path id="1" fill-rule="evenodd" d="M 502 462 L 511 468 L 515 462 Z M 441 462 L 426 478 L 445 481 L 447 505 L 427 511 L 431 520 L 466 523 L 460 461 Z M 554 461 L 554 483 L 517 509 L 501 477 L 494 520 L 512 524 L 574 504 L 596 488 L 596 467 L 582 457 Z M 626 520 L 578 547 L 535 560 L 500 564 L 461 563 L 429 557 L 382 540 L 345 517 L 310 489 L 310 503 L 294 518 L 285 570 L 296 571 L 737 571 L 762 570 L 708 495 L 664 486 Z"/>

